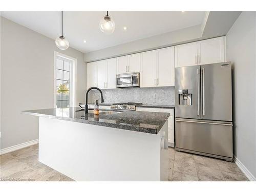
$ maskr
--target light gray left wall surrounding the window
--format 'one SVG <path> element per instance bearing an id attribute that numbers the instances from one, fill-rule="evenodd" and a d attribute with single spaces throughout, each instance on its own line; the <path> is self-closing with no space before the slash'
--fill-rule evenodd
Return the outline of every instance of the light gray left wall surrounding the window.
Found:
<path id="1" fill-rule="evenodd" d="M 84 102 L 83 53 L 1 17 L 1 148 L 38 138 L 38 117 L 22 110 L 53 108 L 54 51 L 77 58 L 77 103 Z"/>

